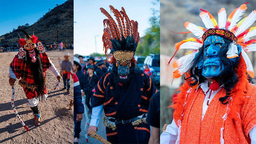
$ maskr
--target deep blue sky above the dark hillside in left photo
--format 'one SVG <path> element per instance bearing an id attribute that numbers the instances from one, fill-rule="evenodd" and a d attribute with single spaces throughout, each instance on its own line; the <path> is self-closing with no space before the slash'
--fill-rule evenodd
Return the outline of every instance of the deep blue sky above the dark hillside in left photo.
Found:
<path id="1" fill-rule="evenodd" d="M 18 26 L 34 24 L 48 9 L 66 0 L 0 0 L 0 36 Z"/>

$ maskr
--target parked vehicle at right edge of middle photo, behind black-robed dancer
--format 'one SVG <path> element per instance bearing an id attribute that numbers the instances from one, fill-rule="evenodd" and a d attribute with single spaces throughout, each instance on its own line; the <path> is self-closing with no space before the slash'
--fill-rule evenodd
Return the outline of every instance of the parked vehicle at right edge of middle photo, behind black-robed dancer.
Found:
<path id="1" fill-rule="evenodd" d="M 160 66 L 158 64 L 158 58 L 159 54 L 149 54 L 145 60 L 143 69 L 145 69 L 145 65 L 147 64 L 149 66 L 149 70 L 152 73 L 152 81 L 154 85 L 160 86 Z"/>

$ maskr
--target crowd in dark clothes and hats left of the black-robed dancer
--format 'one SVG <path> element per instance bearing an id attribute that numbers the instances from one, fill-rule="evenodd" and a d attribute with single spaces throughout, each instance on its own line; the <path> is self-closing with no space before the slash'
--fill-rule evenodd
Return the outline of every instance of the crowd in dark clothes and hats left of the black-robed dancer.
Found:
<path id="1" fill-rule="evenodd" d="M 74 57 L 74 75 L 76 74 L 79 80 L 82 97 L 85 96 L 85 104 L 89 108 L 88 114 L 92 114 L 92 97 L 95 92 L 95 85 L 97 85 L 102 75 L 108 71 L 108 66 L 109 64 L 107 63 L 106 58 L 99 60 L 96 63 L 93 57 L 90 57 L 87 61 L 83 60 L 83 56 L 78 56 L 78 58 Z M 75 86 L 76 84 L 74 81 L 74 99 L 76 96 Z M 81 132 L 81 116 L 79 115 L 84 113 L 84 107 L 81 105 L 81 100 L 77 101 L 77 103 L 76 101 L 74 102 L 74 143 L 78 142 L 79 133 Z"/>

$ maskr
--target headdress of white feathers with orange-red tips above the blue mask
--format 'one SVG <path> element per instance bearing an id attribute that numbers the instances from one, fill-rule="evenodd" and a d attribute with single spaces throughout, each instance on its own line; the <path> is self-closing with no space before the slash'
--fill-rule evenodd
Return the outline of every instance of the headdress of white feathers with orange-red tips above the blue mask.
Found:
<path id="1" fill-rule="evenodd" d="M 250 40 L 250 37 L 256 36 L 256 27 L 249 28 L 256 20 L 256 11 L 252 11 L 247 17 L 241 20 L 241 16 L 247 9 L 246 4 L 247 3 L 242 4 L 240 7 L 236 8 L 233 12 L 230 13 L 228 18 L 225 8 L 221 8 L 218 12 L 218 23 L 211 13 L 207 12 L 206 10 L 200 9 L 202 12 L 199 14 L 199 16 L 202 18 L 205 28 L 196 26 L 195 24 L 188 21 L 185 22 L 184 26 L 186 29 L 189 30 L 189 32 L 187 33 L 193 33 L 197 38 L 186 38 L 185 40 L 175 44 L 176 52 L 179 49 L 193 50 L 189 54 L 174 61 L 173 68 L 177 68 L 177 70 L 173 72 L 174 78 L 179 78 L 182 74 L 186 73 L 189 70 L 191 66 L 191 61 L 194 59 L 196 53 L 199 52 L 199 48 L 203 46 L 204 40 L 208 36 L 221 36 L 232 42 L 233 48 L 229 47 L 229 50 L 227 52 L 227 58 L 237 57 L 238 55 L 232 50 L 235 50 L 236 44 L 241 45 L 241 54 L 246 63 L 247 73 L 252 78 L 254 77 L 252 63 L 246 52 L 256 51 L 256 39 Z M 174 53 L 174 55 L 176 54 L 176 52 Z M 174 55 L 172 56 L 172 58 L 174 57 Z"/>

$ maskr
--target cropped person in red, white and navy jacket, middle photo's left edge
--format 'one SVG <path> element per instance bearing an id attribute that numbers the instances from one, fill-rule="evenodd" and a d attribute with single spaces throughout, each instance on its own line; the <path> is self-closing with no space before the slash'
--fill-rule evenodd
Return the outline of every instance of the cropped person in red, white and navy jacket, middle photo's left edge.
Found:
<path id="1" fill-rule="evenodd" d="M 79 133 L 81 132 L 81 120 L 84 113 L 84 105 L 82 104 L 82 93 L 79 80 L 74 73 L 74 143 L 78 143 Z"/>

